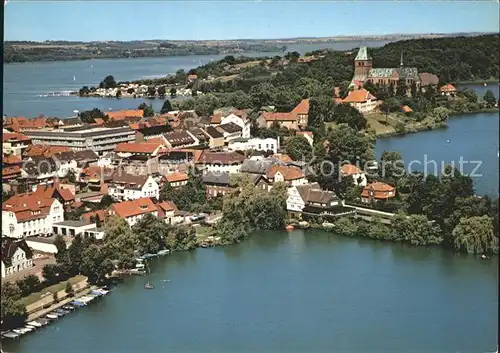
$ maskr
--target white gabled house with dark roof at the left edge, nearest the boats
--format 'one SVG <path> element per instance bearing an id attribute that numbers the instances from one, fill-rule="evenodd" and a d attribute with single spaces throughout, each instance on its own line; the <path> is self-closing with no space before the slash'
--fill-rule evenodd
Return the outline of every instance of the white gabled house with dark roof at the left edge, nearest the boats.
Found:
<path id="1" fill-rule="evenodd" d="M 24 239 L 2 239 L 2 278 L 31 267 L 33 252 Z"/>

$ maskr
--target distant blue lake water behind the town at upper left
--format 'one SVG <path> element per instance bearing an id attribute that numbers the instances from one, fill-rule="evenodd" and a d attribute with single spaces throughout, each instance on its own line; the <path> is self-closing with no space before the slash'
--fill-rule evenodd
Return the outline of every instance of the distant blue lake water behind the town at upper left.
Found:
<path id="1" fill-rule="evenodd" d="M 289 51 L 301 54 L 317 49 L 347 50 L 367 45 L 382 46 L 386 41 L 346 41 L 329 44 L 291 45 Z M 245 56 L 274 56 L 283 53 L 246 53 Z M 225 55 L 194 55 L 163 58 L 97 59 L 80 61 L 12 63 L 4 65 L 3 113 L 8 116 L 34 117 L 73 116 L 73 110 L 99 108 L 103 111 L 133 109 L 143 99 L 110 99 L 80 97 L 43 97 L 51 92 L 77 91 L 82 86 L 96 86 L 107 75 L 117 81 L 154 78 L 175 73 L 179 69 L 189 70 Z M 73 80 L 73 77 L 75 80 Z M 42 96 L 42 97 L 41 97 Z M 163 102 L 147 100 L 157 110 Z"/>

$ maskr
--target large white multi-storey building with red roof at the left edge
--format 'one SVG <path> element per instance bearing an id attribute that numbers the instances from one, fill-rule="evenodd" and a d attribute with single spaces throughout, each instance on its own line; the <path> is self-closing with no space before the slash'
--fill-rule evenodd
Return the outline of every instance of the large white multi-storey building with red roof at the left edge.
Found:
<path id="1" fill-rule="evenodd" d="M 63 220 L 63 205 L 55 198 L 18 194 L 2 204 L 2 233 L 11 238 L 49 234 Z"/>

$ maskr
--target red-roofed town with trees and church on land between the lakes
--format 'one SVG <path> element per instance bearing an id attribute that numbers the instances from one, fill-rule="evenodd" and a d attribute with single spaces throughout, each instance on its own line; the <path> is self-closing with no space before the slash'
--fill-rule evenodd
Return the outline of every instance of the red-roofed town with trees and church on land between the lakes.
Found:
<path id="1" fill-rule="evenodd" d="M 6 320 L 16 326 L 55 315 L 75 293 L 95 292 L 112 276 L 144 273 L 149 257 L 240 242 L 255 229 L 317 227 L 413 245 L 462 234 L 468 228 L 460 218 L 445 223 L 450 214 L 426 214 L 423 201 L 415 206 L 412 195 L 425 181 L 381 168 L 401 157 L 387 151 L 374 161 L 373 143 L 391 127 L 384 124 L 389 115 L 401 119 L 399 132 L 405 130 L 404 119 L 414 111 L 403 103 L 417 94 L 435 104 L 432 123 L 438 124 L 446 123 L 450 105 L 479 104 L 478 97 L 406 67 L 403 55 L 398 68 L 375 68 L 368 51 L 359 48 L 348 89 L 331 87 L 326 103 L 303 98 L 289 111 L 217 107 L 199 114 L 174 110 L 167 100 L 161 112 L 143 104 L 67 118 L 4 117 L 2 279 L 30 298 Z M 122 88 L 124 95 L 148 90 Z M 385 90 L 387 99 L 374 90 Z M 95 94 L 117 92 L 100 88 Z M 479 100 L 482 109 L 498 107 L 491 94 Z M 331 111 L 321 109 L 343 120 L 328 122 Z M 332 165 L 327 176 L 318 173 L 325 161 Z M 467 177 L 460 177 L 456 187 L 475 198 Z M 406 203 L 416 211 L 408 212 Z M 489 218 L 475 221 L 493 234 Z M 457 240 L 454 250 L 466 243 Z M 488 239 L 466 251 L 486 256 L 498 244 Z M 107 289 L 100 290 L 95 296 Z"/>

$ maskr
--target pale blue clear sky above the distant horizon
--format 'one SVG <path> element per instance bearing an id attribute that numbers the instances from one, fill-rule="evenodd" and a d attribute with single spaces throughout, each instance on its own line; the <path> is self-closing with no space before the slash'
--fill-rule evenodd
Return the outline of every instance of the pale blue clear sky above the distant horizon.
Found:
<path id="1" fill-rule="evenodd" d="M 16 1 L 4 40 L 202 40 L 498 32 L 483 1 Z"/>

